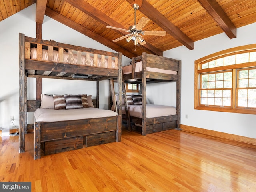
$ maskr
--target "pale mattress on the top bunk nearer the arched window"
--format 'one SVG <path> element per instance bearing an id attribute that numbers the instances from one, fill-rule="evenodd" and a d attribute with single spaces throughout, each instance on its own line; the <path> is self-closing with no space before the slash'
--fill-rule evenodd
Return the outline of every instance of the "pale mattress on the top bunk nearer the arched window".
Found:
<path id="1" fill-rule="evenodd" d="M 132 65 L 124 66 L 122 67 L 122 70 L 123 70 L 123 74 L 132 73 Z M 158 69 L 158 68 L 152 68 L 152 67 L 146 67 L 146 70 L 150 72 L 158 72 L 158 73 L 164 73 L 164 74 L 172 74 L 172 75 L 177 74 L 177 71 Z M 142 71 L 142 61 L 135 63 L 135 72 L 140 72 L 140 71 Z"/>

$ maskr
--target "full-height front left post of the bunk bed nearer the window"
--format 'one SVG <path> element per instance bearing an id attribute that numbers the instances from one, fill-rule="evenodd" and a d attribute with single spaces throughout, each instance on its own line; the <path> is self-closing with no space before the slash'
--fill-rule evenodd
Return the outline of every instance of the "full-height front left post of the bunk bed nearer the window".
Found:
<path id="1" fill-rule="evenodd" d="M 145 52 L 142 53 L 142 76 L 141 76 L 141 82 L 142 82 L 142 127 L 141 127 L 141 132 L 142 135 L 146 135 L 147 134 L 147 124 L 146 124 L 146 84 L 147 84 L 147 80 L 146 80 L 146 60 L 147 60 L 147 54 Z"/>

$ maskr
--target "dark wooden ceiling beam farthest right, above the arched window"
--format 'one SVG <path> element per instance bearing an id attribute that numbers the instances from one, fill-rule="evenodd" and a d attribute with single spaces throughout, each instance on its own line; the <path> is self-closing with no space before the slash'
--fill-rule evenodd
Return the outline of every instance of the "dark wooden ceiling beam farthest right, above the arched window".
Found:
<path id="1" fill-rule="evenodd" d="M 236 27 L 228 18 L 216 0 L 197 0 L 208 14 L 222 28 L 226 35 L 232 39 L 236 38 Z"/>

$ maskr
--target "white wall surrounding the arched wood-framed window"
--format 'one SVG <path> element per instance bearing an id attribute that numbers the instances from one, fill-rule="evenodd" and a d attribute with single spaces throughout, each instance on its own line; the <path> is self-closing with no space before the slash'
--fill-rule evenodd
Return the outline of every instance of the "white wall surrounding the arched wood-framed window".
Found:
<path id="1" fill-rule="evenodd" d="M 232 47 L 256 43 L 256 23 L 237 29 L 237 38 L 218 34 L 195 42 L 195 49 L 180 46 L 164 52 L 165 57 L 182 62 L 181 124 L 256 138 L 256 115 L 194 109 L 194 61 Z M 188 118 L 185 118 L 185 115 Z"/>

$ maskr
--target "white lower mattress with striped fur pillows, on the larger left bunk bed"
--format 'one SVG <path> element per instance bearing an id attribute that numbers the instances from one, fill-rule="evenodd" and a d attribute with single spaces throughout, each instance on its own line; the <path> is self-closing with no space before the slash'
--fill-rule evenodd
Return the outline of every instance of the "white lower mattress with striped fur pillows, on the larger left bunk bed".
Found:
<path id="1" fill-rule="evenodd" d="M 68 109 L 68 110 L 38 108 L 34 112 L 35 121 L 44 121 L 44 122 L 112 117 L 116 115 L 117 113 L 114 111 L 98 109 L 94 107 L 82 108 L 82 109 Z"/>

